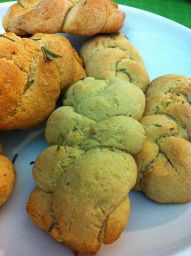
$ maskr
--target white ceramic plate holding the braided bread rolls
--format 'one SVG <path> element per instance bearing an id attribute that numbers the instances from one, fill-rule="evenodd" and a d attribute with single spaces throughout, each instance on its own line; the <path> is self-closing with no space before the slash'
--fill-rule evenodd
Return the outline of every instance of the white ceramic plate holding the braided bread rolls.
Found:
<path id="1" fill-rule="evenodd" d="M 12 4 L 0 4 L 0 20 Z M 120 5 L 126 20 L 122 32 L 140 51 L 150 79 L 176 73 L 191 77 L 191 30 L 171 20 Z M 0 25 L 0 32 L 4 32 Z M 67 35 L 76 49 L 84 38 Z M 44 124 L 26 131 L 0 132 L 5 154 L 15 163 L 17 182 L 10 199 L 0 207 L 0 256 L 73 256 L 32 223 L 27 199 L 35 186 L 32 166 L 43 149 Z M 101 246 L 98 256 L 191 256 L 191 202 L 161 205 L 141 192 L 130 192 L 131 214 L 120 239 Z"/>

